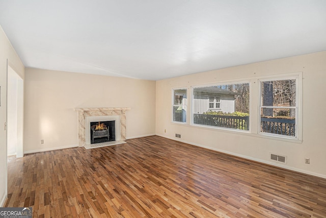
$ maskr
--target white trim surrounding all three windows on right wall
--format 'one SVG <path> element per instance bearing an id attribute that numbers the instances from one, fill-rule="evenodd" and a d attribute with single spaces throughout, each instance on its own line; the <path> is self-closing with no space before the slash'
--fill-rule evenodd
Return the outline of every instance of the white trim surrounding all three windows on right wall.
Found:
<path id="1" fill-rule="evenodd" d="M 277 134 L 259 134 L 260 132 L 260 81 L 270 81 L 270 80 L 282 80 L 284 78 L 293 78 L 297 77 L 296 80 L 296 106 L 297 106 L 297 137 L 279 137 Z M 172 122 L 174 125 L 187 125 L 191 128 L 195 129 L 206 129 L 210 131 L 218 131 L 218 132 L 225 132 L 225 133 L 235 133 L 241 135 L 247 135 L 251 137 L 258 137 L 258 138 L 266 138 L 271 140 L 278 140 L 278 141 L 286 141 L 291 143 L 302 143 L 303 142 L 303 72 L 292 72 L 292 73 L 282 73 L 282 74 L 275 74 L 269 76 L 257 76 L 257 77 L 249 77 L 243 78 L 243 80 L 224 80 L 218 82 L 207 82 L 201 84 L 193 84 L 187 87 L 172 87 L 172 94 L 173 96 L 174 89 L 187 89 L 187 114 L 186 114 L 186 123 L 182 122 Z M 236 83 L 249 83 L 249 90 L 250 90 L 250 105 L 249 105 L 249 124 L 250 129 L 247 130 L 237 130 L 237 129 L 230 129 L 230 128 L 215 128 L 209 126 L 203 126 L 194 124 L 194 102 L 193 102 L 193 95 L 194 95 L 194 88 L 206 87 L 206 86 L 215 86 L 215 85 L 228 85 L 228 84 L 236 84 Z M 173 98 L 171 98 L 173 101 Z M 173 102 L 172 102 L 173 104 Z M 173 113 L 173 111 L 171 110 Z M 171 114 L 171 120 L 173 120 L 173 114 Z"/>

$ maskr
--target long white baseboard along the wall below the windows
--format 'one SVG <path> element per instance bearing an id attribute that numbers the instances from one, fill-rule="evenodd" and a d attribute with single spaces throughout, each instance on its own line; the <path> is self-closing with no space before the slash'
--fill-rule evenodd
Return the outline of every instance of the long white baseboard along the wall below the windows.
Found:
<path id="1" fill-rule="evenodd" d="M 269 161 L 258 159 L 258 158 L 253 158 L 253 157 L 246 156 L 246 155 L 241 155 L 241 154 L 237 154 L 237 153 L 233 153 L 233 152 L 228 152 L 228 151 L 224 151 L 224 150 L 220 150 L 220 149 L 215 149 L 215 148 L 212 148 L 212 147 L 203 146 L 202 144 L 197 144 L 197 143 L 185 141 L 185 140 L 178 139 L 178 138 L 167 137 L 167 136 L 161 135 L 161 134 L 156 134 L 156 135 L 164 137 L 164 138 L 169 138 L 169 139 L 172 139 L 172 140 L 175 140 L 175 141 L 181 141 L 181 142 L 184 142 L 184 143 L 187 143 L 187 144 L 191 144 L 193 146 L 197 146 L 197 147 L 201 147 L 201 148 L 221 152 L 221 153 L 224 153 L 224 154 L 229 154 L 229 155 L 233 155 L 233 156 L 236 156 L 236 157 L 241 157 L 241 158 L 244 158 L 244 159 L 253 160 L 253 161 L 264 163 L 264 164 L 267 164 L 267 165 L 277 166 L 277 167 L 280 167 L 280 168 L 288 169 L 290 171 L 295 171 L 295 172 L 298 172 L 298 173 L 308 174 L 308 175 L 311 175 L 311 176 L 316 176 L 316 177 L 326 179 L 326 175 L 318 174 L 318 173 L 314 173 L 314 172 L 310 172 L 310 171 L 305 171 L 304 169 L 299 169 L 299 168 L 295 168 L 295 167 L 292 167 L 292 166 L 287 166 L 287 165 L 284 165 L 284 164 L 278 164 L 278 163 L 269 162 Z"/>

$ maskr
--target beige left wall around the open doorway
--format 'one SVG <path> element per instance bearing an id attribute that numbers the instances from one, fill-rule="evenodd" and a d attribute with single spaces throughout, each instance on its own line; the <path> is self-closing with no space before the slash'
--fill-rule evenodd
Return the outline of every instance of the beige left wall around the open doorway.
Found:
<path id="1" fill-rule="evenodd" d="M 5 122 L 7 122 L 7 60 L 22 79 L 24 78 L 24 66 L 1 27 L 0 48 L 0 206 L 2 206 L 7 197 L 7 131 L 4 128 Z"/>

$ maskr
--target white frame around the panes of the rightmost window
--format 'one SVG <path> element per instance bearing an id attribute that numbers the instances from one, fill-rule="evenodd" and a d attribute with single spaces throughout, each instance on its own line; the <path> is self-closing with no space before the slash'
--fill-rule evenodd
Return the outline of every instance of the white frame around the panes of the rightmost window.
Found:
<path id="1" fill-rule="evenodd" d="M 262 82 L 267 81 L 280 81 L 280 80 L 295 80 L 295 106 L 263 106 L 262 100 Z M 258 135 L 267 136 L 272 138 L 302 140 L 302 72 L 294 74 L 284 74 L 278 76 L 270 76 L 258 79 Z M 271 109 L 295 109 L 295 136 L 288 136 L 276 133 L 267 133 L 261 131 L 261 110 L 263 108 Z"/>

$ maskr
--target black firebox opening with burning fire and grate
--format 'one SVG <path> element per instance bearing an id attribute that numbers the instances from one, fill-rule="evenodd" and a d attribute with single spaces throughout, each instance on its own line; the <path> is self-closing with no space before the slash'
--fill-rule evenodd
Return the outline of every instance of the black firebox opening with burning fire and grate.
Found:
<path id="1" fill-rule="evenodd" d="M 91 122 L 91 144 L 115 141 L 115 120 Z"/>

